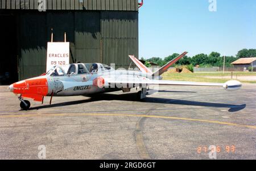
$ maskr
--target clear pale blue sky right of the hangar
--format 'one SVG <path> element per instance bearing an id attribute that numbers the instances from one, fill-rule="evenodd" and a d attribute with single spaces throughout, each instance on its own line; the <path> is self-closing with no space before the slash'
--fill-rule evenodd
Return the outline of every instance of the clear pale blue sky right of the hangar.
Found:
<path id="1" fill-rule="evenodd" d="M 139 8 L 139 58 L 243 48 L 256 49 L 255 0 L 144 0 Z"/>

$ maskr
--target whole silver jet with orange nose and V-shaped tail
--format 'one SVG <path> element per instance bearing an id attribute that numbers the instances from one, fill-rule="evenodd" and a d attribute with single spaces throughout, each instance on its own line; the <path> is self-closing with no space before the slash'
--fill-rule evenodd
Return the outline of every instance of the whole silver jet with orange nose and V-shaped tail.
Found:
<path id="1" fill-rule="evenodd" d="M 27 110 L 30 108 L 30 102 L 24 98 L 40 101 L 43 104 L 44 97 L 50 96 L 51 104 L 53 96 L 92 96 L 96 93 L 121 90 L 130 92 L 131 88 L 139 88 L 138 98 L 144 99 L 151 85 L 212 86 L 224 87 L 228 91 L 242 87 L 242 84 L 236 80 L 224 84 L 162 80 L 161 75 L 185 54 L 187 52 L 180 54 L 156 72 L 152 72 L 133 55 L 129 57 L 140 71 L 114 70 L 101 63 L 74 63 L 69 65 L 67 72 L 62 67 L 55 66 L 46 74 L 11 84 L 8 89 L 19 95 L 20 108 Z"/>

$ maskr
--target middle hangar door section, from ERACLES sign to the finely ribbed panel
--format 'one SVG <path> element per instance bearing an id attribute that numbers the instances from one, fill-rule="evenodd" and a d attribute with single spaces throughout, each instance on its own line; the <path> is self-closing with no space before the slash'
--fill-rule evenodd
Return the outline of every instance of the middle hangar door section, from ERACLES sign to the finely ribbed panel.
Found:
<path id="1" fill-rule="evenodd" d="M 64 32 L 70 42 L 71 63 L 92 63 L 100 61 L 100 12 L 48 12 L 47 41 L 64 41 Z"/>

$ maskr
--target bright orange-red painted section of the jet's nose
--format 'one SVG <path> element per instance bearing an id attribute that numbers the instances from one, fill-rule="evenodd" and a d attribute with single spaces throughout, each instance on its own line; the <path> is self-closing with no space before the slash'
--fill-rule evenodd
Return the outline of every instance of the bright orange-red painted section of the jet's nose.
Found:
<path id="1" fill-rule="evenodd" d="M 42 101 L 43 96 L 47 96 L 48 83 L 46 78 L 23 80 L 13 84 L 13 92 L 22 94 L 23 97 Z"/>

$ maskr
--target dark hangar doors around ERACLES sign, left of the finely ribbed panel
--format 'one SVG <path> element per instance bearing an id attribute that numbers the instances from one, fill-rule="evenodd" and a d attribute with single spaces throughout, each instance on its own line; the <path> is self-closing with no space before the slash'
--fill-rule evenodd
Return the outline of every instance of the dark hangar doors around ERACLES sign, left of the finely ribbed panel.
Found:
<path id="1" fill-rule="evenodd" d="M 47 42 L 70 42 L 71 63 L 101 62 L 99 11 L 28 12 L 19 18 L 19 80 L 46 72 Z"/>

